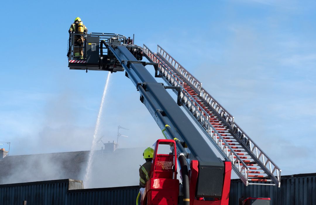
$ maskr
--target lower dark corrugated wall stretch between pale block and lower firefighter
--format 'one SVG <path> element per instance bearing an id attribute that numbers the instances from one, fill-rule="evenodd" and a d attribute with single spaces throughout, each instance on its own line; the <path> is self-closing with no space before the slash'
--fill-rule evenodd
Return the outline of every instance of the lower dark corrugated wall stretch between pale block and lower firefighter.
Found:
<path id="1" fill-rule="evenodd" d="M 67 205 L 134 205 L 139 186 L 70 190 Z"/>

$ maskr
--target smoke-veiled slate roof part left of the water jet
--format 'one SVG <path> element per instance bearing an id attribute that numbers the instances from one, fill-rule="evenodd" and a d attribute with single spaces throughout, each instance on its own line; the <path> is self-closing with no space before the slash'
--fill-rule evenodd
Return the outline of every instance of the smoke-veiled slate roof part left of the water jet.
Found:
<path id="1" fill-rule="evenodd" d="M 90 151 L 13 155 L 0 159 L 0 183 L 77 179 Z"/>

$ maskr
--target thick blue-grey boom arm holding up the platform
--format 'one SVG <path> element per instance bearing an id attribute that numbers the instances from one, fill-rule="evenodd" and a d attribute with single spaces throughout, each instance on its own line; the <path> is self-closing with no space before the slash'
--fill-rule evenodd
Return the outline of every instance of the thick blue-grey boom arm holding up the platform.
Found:
<path id="1" fill-rule="evenodd" d="M 166 127 L 166 136 L 169 139 L 178 138 L 184 141 L 189 150 L 189 160 L 198 160 L 200 168 L 207 168 L 203 176 L 199 175 L 198 183 L 213 184 L 213 189 L 197 190 L 197 195 L 205 197 L 220 197 L 224 175 L 224 163 L 217 158 L 216 154 L 204 140 L 203 136 L 185 115 L 172 96 L 158 83 L 143 64 L 136 62 L 133 54 L 122 46 L 109 46 L 109 50 L 124 67 L 128 77 L 141 94 L 141 101 L 149 110 L 161 129 Z M 184 151 L 183 147 L 177 145 L 177 149 Z M 190 167 L 190 166 L 188 166 Z"/>

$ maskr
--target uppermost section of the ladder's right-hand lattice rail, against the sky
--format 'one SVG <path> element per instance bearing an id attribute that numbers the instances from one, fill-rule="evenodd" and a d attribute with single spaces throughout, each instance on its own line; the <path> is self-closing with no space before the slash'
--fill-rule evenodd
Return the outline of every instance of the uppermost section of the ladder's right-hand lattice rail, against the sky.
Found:
<path id="1" fill-rule="evenodd" d="M 184 79 L 188 80 L 188 82 L 197 89 L 198 93 L 201 92 L 202 83 L 159 45 L 157 45 L 157 54 L 160 54 L 163 59 L 166 59 L 166 62 L 172 65 L 172 67 L 175 68 L 175 71 L 178 71 Z"/>

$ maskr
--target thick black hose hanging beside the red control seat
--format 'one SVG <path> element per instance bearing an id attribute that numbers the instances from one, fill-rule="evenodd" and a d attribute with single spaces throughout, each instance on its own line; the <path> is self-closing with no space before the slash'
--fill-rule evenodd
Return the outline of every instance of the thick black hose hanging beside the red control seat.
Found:
<path id="1" fill-rule="evenodd" d="M 184 155 L 178 157 L 181 166 L 181 177 L 183 183 L 183 204 L 190 204 L 190 186 L 189 186 L 189 175 L 188 175 L 188 166 L 185 160 Z"/>

